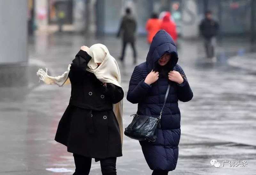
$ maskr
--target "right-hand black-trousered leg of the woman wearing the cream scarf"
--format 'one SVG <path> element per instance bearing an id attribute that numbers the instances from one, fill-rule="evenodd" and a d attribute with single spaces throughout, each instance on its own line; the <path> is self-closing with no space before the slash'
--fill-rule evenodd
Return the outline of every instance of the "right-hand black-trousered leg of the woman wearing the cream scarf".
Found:
<path id="1" fill-rule="evenodd" d="M 116 175 L 116 157 L 100 160 L 102 175 Z"/>

